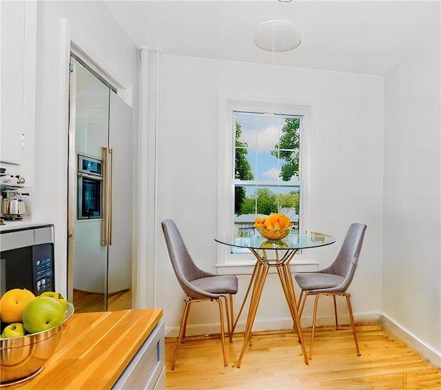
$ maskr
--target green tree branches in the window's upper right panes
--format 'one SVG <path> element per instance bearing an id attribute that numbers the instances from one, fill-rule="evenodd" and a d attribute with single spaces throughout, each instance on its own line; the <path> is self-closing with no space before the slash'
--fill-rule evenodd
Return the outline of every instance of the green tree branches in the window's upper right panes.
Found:
<path id="1" fill-rule="evenodd" d="M 298 176 L 298 151 L 300 150 L 300 119 L 286 118 L 282 127 L 280 140 L 274 145 L 272 156 L 285 160 L 280 168 L 279 176 L 283 181 L 289 181 L 292 176 Z"/>

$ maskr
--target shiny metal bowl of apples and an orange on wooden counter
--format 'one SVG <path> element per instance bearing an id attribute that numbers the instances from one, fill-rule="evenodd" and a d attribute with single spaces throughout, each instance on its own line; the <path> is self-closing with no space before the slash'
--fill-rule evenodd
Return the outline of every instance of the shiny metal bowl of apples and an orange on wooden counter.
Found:
<path id="1" fill-rule="evenodd" d="M 6 291 L 0 299 L 0 387 L 37 376 L 73 314 L 72 303 L 57 292 L 34 296 L 27 289 Z"/>

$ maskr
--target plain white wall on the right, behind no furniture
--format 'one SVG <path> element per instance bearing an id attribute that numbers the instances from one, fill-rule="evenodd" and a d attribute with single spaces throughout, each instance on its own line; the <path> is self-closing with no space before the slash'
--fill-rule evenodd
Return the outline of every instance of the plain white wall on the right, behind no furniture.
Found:
<path id="1" fill-rule="evenodd" d="M 439 25 L 426 43 L 385 76 L 382 312 L 441 367 Z"/>

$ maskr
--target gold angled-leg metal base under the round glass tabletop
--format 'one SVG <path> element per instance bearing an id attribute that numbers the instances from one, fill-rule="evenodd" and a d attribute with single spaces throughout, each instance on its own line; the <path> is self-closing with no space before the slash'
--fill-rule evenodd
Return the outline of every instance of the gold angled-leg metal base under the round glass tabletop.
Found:
<path id="1" fill-rule="evenodd" d="M 256 265 L 254 266 L 254 271 L 251 280 L 249 280 L 247 293 L 245 294 L 245 298 L 243 299 L 242 306 L 240 307 L 240 311 L 238 313 L 236 322 L 234 322 L 232 329 L 232 331 L 234 332 L 238 319 L 240 318 L 240 314 L 242 314 L 243 307 L 245 306 L 245 302 L 247 301 L 247 298 L 249 296 L 249 292 L 252 291 L 251 300 L 249 303 L 247 324 L 245 325 L 245 337 L 243 340 L 242 351 L 240 351 L 237 367 L 240 368 L 240 364 L 242 363 L 242 359 L 243 359 L 243 354 L 245 353 L 247 344 L 251 340 L 254 318 L 256 318 L 256 312 L 257 312 L 258 304 L 260 302 L 260 296 L 262 295 L 263 286 L 265 285 L 265 280 L 267 278 L 267 274 L 270 267 L 276 267 L 277 269 L 277 273 L 280 278 L 280 284 L 282 285 L 283 292 L 285 294 L 285 298 L 288 303 L 289 311 L 291 312 L 291 317 L 292 320 L 294 321 L 294 329 L 296 329 L 297 332 L 298 342 L 302 347 L 303 359 L 305 360 L 306 365 L 309 364 L 308 356 L 305 349 L 305 343 L 303 342 L 302 328 L 300 327 L 300 318 L 298 317 L 296 293 L 294 292 L 294 285 L 291 277 L 291 269 L 289 267 L 289 262 L 296 254 L 297 249 L 271 249 L 271 252 L 275 252 L 276 254 L 276 258 L 274 259 L 269 259 L 267 257 L 267 251 L 265 251 L 265 249 L 249 248 L 249 250 L 256 257 Z M 279 250 L 284 252 L 282 256 L 279 256 Z M 260 255 L 258 251 L 261 251 L 262 254 Z"/>

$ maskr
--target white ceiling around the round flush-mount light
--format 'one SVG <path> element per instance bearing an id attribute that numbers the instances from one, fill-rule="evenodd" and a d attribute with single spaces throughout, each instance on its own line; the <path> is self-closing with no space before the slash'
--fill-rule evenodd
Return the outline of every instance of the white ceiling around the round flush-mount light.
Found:
<path id="1" fill-rule="evenodd" d="M 385 74 L 440 35 L 440 1 L 109 0 L 136 45 L 164 54 Z M 298 25 L 302 43 L 270 53 L 254 45 L 257 25 Z"/>

